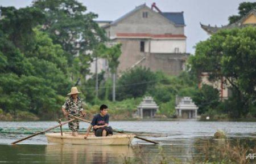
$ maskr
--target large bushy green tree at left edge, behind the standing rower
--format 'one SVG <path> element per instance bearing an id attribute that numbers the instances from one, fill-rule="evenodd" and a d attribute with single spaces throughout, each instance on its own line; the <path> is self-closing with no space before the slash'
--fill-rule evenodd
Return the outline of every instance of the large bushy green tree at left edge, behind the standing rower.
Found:
<path id="1" fill-rule="evenodd" d="M 6 113 L 26 111 L 51 119 L 56 118 L 64 101 L 61 95 L 67 94 L 71 83 L 61 46 L 36 28 L 39 20 L 33 15 L 37 11 L 34 7 L 1 8 L 0 108 Z M 35 20 L 28 21 L 32 18 Z"/>

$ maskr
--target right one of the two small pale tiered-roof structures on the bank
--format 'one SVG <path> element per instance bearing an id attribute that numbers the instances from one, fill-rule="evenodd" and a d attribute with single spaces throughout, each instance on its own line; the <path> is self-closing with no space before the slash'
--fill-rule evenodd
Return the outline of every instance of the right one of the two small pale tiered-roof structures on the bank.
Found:
<path id="1" fill-rule="evenodd" d="M 181 101 L 177 103 L 176 115 L 179 118 L 196 118 L 198 107 L 192 102 L 190 97 L 183 97 Z"/>

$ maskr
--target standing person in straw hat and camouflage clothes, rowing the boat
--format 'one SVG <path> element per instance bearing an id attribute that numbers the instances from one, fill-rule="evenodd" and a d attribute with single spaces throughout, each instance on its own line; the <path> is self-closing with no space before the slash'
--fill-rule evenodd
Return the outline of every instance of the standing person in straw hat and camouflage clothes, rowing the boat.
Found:
<path id="1" fill-rule="evenodd" d="M 81 92 L 79 92 L 76 87 L 72 87 L 71 92 L 68 93 L 70 96 L 67 98 L 61 108 L 63 114 L 68 117 L 68 120 L 73 119 L 72 116 L 69 116 L 69 114 L 73 116 L 86 115 L 84 109 L 82 108 L 82 100 L 78 96 L 79 93 Z M 72 130 L 72 136 L 78 136 L 77 131 L 79 130 L 79 119 L 69 122 L 68 127 L 70 130 Z"/>

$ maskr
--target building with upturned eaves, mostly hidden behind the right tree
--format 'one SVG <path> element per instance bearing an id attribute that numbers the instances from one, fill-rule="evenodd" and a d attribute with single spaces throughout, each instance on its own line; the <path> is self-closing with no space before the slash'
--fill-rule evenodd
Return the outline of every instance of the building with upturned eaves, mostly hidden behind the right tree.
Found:
<path id="1" fill-rule="evenodd" d="M 235 23 L 228 24 L 228 25 L 222 25 L 222 27 L 213 27 L 210 25 L 204 25 L 201 24 L 201 28 L 204 29 L 208 34 L 216 33 L 217 31 L 220 31 L 221 29 L 232 29 L 232 28 L 243 28 L 247 27 L 248 25 L 251 25 L 255 27 L 256 25 L 256 10 L 252 9 L 250 10 L 245 16 L 243 16 L 240 20 L 236 21 Z M 212 85 L 214 88 L 217 88 L 220 91 L 220 98 L 226 99 L 232 95 L 232 90 L 229 87 L 224 87 L 224 81 L 225 79 L 222 78 L 219 81 L 214 81 L 214 83 L 210 82 L 208 80 L 208 73 L 204 72 L 201 74 L 201 82 L 199 84 L 199 87 L 201 87 L 202 84 L 208 84 Z M 228 85 L 226 85 L 228 86 Z"/>

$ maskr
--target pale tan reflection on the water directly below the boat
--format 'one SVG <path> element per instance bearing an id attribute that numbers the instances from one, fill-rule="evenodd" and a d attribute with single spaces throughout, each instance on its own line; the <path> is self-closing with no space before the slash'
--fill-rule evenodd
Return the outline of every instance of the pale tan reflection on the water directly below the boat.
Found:
<path id="1" fill-rule="evenodd" d="M 127 145 L 60 145 L 46 146 L 47 163 L 120 163 L 133 157 L 133 148 Z"/>

